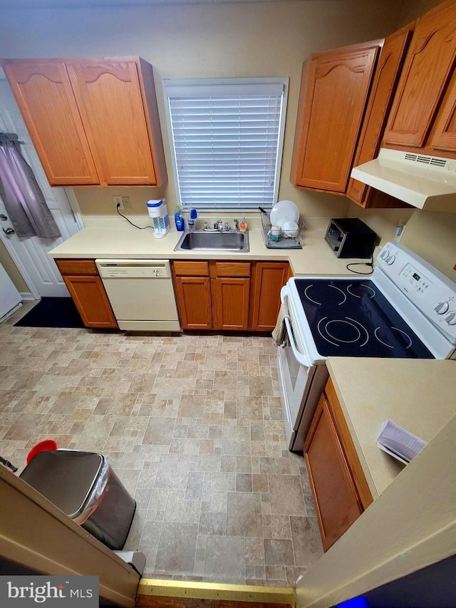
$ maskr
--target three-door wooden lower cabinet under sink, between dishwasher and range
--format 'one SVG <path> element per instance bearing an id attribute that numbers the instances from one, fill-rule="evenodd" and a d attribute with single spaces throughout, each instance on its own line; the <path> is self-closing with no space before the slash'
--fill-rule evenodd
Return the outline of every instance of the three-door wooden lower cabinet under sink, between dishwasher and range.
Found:
<path id="1" fill-rule="evenodd" d="M 172 264 L 182 329 L 272 331 L 288 262 Z"/>

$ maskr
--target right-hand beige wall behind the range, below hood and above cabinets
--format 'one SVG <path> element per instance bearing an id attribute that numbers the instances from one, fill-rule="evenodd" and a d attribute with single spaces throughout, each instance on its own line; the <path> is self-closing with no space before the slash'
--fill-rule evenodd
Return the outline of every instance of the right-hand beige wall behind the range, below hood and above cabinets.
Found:
<path id="1" fill-rule="evenodd" d="M 416 0 L 400 4 L 395 29 L 417 19 L 438 4 L 442 4 L 441 0 Z M 405 222 L 407 227 L 402 239 L 405 247 L 413 249 L 456 282 L 456 272 L 453 270 L 456 263 L 456 213 L 413 209 L 363 210 L 352 202 L 348 216 L 359 217 L 366 222 L 380 235 L 381 244 L 393 240 L 398 220 Z"/>

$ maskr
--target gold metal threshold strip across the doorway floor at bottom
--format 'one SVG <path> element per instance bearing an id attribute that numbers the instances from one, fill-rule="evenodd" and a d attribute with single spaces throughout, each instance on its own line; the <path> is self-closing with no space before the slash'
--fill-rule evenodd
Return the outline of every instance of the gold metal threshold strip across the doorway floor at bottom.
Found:
<path id="1" fill-rule="evenodd" d="M 140 579 L 138 595 L 218 599 L 231 602 L 262 602 L 294 606 L 296 593 L 289 587 L 259 587 L 248 584 Z"/>

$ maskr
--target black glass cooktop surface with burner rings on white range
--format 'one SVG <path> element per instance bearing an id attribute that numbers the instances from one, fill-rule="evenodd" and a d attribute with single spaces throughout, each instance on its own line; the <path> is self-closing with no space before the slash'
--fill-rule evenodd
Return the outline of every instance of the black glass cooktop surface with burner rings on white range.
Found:
<path id="1" fill-rule="evenodd" d="M 296 279 L 322 356 L 434 359 L 370 280 Z"/>

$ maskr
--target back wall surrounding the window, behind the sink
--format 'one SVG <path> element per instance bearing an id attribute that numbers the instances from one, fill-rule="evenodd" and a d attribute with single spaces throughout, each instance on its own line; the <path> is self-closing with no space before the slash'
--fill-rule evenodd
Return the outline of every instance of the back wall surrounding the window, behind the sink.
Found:
<path id="1" fill-rule="evenodd" d="M 304 217 L 345 216 L 344 197 L 296 190 L 289 182 L 301 66 L 310 53 L 381 38 L 393 31 L 398 3 L 366 0 L 170 4 L 93 9 L 6 10 L 1 57 L 140 55 L 155 70 L 167 166 L 169 145 L 162 78 L 289 76 L 284 155 L 279 198 L 299 205 Z M 175 204 L 170 182 L 152 188 L 76 189 L 83 215 L 115 213 L 113 195 L 131 197 L 132 212 L 165 195 Z"/>

